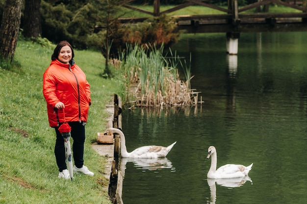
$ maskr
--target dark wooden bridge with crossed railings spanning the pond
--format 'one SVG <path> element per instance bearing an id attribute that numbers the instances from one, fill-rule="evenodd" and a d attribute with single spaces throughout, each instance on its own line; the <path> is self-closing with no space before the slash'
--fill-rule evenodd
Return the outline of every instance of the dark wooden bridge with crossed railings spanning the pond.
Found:
<path id="1" fill-rule="evenodd" d="M 271 4 L 282 5 L 292 8 L 295 12 L 270 13 Z M 123 5 L 126 8 L 143 12 L 152 16 L 170 14 L 182 8 L 199 5 L 209 7 L 223 14 L 200 14 L 174 16 L 179 30 L 186 33 L 226 33 L 227 52 L 237 54 L 237 41 L 241 32 L 289 32 L 307 31 L 307 0 L 258 0 L 258 2 L 238 6 L 237 0 L 228 0 L 228 8 L 205 3 L 204 0 L 185 0 L 185 3 L 174 6 L 171 9 L 160 12 L 160 0 L 154 0 L 153 12 L 149 12 L 129 4 Z M 265 12 L 260 12 L 261 7 Z M 247 13 L 246 11 L 256 9 L 259 13 Z M 142 22 L 147 18 L 121 18 L 121 23 Z"/>

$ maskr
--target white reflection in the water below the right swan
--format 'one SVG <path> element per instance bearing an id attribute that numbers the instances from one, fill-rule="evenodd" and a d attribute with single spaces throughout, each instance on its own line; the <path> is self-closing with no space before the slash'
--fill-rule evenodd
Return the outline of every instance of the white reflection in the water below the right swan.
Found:
<path id="1" fill-rule="evenodd" d="M 231 178 L 231 179 L 207 179 L 208 185 L 210 187 L 210 204 L 215 204 L 216 201 L 216 185 L 217 183 L 220 186 L 228 187 L 228 188 L 235 188 L 240 187 L 246 181 L 250 181 L 253 184 L 253 181 L 249 176 L 241 177 L 241 178 Z"/>

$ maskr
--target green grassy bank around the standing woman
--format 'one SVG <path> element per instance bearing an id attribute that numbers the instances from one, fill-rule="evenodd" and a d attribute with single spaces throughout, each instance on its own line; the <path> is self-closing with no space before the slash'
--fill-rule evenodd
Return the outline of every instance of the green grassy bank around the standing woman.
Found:
<path id="1" fill-rule="evenodd" d="M 95 175 L 75 175 L 73 182 L 58 179 L 55 133 L 49 127 L 42 93 L 43 73 L 54 47 L 19 40 L 15 59 L 21 67 L 0 68 L 0 204 L 109 204 L 103 174 L 106 161 L 91 143 L 107 127 L 105 105 L 114 93 L 122 92 L 123 82 L 100 77 L 101 53 L 75 50 L 75 61 L 91 85 L 84 164 Z"/>

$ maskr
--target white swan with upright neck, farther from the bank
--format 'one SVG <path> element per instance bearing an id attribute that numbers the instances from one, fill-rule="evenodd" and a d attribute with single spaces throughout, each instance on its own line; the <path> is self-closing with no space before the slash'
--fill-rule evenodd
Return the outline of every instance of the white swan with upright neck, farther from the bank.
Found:
<path id="1" fill-rule="evenodd" d="M 209 159 L 211 156 L 211 166 L 208 171 L 207 178 L 210 179 L 230 179 L 230 178 L 239 178 L 245 177 L 248 175 L 248 172 L 252 169 L 253 163 L 249 166 L 243 166 L 241 164 L 226 164 L 216 169 L 217 154 L 214 146 L 208 148 Z"/>

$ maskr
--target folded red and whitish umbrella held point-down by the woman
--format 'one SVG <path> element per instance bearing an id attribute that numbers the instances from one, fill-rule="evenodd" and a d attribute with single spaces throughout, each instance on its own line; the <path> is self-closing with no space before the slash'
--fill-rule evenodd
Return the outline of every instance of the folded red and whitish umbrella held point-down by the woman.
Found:
<path id="1" fill-rule="evenodd" d="M 71 130 L 72 128 L 70 125 L 65 121 L 65 112 L 63 109 L 64 114 L 64 123 L 60 125 L 59 132 L 64 138 L 64 146 L 65 146 L 65 156 L 66 156 L 66 162 L 67 162 L 67 168 L 70 175 L 71 180 L 73 181 L 73 160 L 72 160 L 72 150 L 70 147 L 70 136 L 71 136 Z"/>

